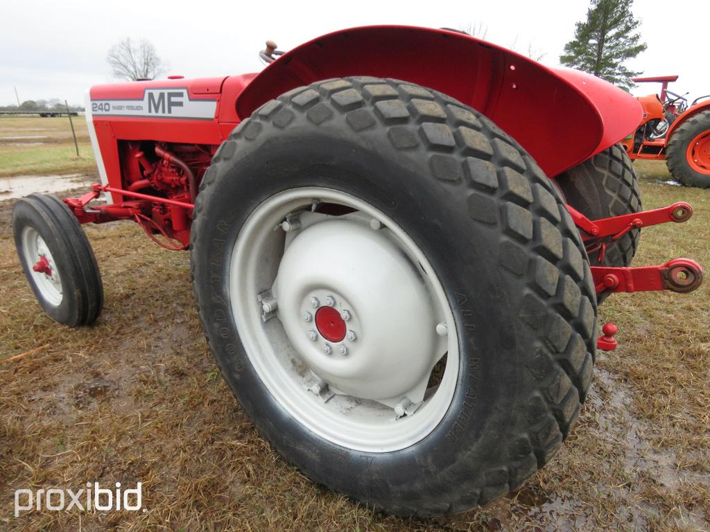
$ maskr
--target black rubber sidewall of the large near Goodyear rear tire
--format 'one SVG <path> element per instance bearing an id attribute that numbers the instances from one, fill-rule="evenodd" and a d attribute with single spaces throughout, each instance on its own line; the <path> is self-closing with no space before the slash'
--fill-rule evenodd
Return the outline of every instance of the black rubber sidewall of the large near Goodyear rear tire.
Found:
<path id="1" fill-rule="evenodd" d="M 501 229 L 495 223 L 471 221 L 463 179 L 438 183 L 422 171 L 427 159 L 417 161 L 410 153 L 382 148 L 381 138 L 373 142 L 337 128 L 315 133 L 307 123 L 288 128 L 278 138 L 260 138 L 266 127 L 247 121 L 233 138 L 254 135 L 257 140 L 240 143 L 238 150 L 223 145 L 217 164 L 204 178 L 191 235 L 193 286 L 202 325 L 245 411 L 275 448 L 311 478 L 396 514 L 461 511 L 517 487 L 549 460 L 574 423 L 579 397 L 589 385 L 591 355 L 583 356 L 579 375 L 572 377 L 577 389 L 561 367 L 548 364 L 547 357 L 538 360 L 533 346 L 545 349 L 546 341 L 540 331 L 522 322 L 510 325 L 511 318 L 520 320 L 525 311 L 520 298 L 528 295 L 529 279 L 503 275 L 498 261 L 491 260 L 501 254 Z M 505 136 L 493 124 L 488 127 L 497 138 Z M 525 162 L 525 172 L 546 183 L 546 194 L 554 194 L 532 160 Z M 209 192 L 214 182 L 219 193 Z M 235 333 L 226 289 L 234 239 L 262 201 L 298 187 L 341 190 L 393 219 L 425 253 L 449 297 L 459 331 L 459 384 L 439 426 L 410 448 L 366 453 L 311 433 L 273 399 Z M 563 207 L 561 211 L 566 215 Z M 564 219 L 565 238 L 572 243 L 579 235 L 569 218 Z M 593 287 L 585 268 L 579 285 L 589 299 Z M 540 319 L 548 317 L 555 319 L 547 314 Z M 570 321 L 576 323 L 572 334 L 578 336 L 577 329 L 584 328 L 581 321 L 586 323 L 584 341 L 591 351 L 594 316 Z M 545 382 L 551 388 L 540 389 L 526 369 L 537 363 L 531 360 L 549 371 Z M 545 406 L 547 392 L 554 396 L 552 402 L 563 405 L 559 411 Z"/>

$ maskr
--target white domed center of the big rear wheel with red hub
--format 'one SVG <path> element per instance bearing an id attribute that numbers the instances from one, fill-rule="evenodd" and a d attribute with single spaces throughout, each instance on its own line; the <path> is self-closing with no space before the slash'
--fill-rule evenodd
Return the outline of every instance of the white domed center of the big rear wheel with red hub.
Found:
<path id="1" fill-rule="evenodd" d="M 297 354 L 332 389 L 421 401 L 442 354 L 438 317 L 416 265 L 386 235 L 330 218 L 291 240 L 273 285 Z"/>

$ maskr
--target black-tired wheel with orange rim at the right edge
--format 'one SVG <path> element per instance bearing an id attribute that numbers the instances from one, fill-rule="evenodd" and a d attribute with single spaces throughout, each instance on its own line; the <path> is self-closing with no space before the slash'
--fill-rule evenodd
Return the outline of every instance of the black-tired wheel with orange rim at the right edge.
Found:
<path id="1" fill-rule="evenodd" d="M 673 179 L 686 187 L 710 187 L 710 111 L 695 113 L 674 131 L 666 150 Z"/>

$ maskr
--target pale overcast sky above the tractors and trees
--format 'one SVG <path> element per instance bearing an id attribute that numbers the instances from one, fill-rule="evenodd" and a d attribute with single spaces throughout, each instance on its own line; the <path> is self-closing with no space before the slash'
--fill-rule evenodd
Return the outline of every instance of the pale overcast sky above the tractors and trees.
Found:
<path id="1" fill-rule="evenodd" d="M 461 28 L 482 23 L 487 40 L 519 52 L 545 52 L 558 65 L 574 23 L 586 17 L 589 0 L 435 0 L 354 2 L 321 0 L 0 0 L 0 105 L 20 100 L 83 101 L 92 84 L 111 82 L 106 53 L 124 37 L 148 38 L 169 63 L 167 74 L 211 77 L 261 70 L 264 40 L 279 48 L 341 28 L 403 24 Z M 689 98 L 710 93 L 706 69 L 708 0 L 636 0 L 648 49 L 630 66 L 644 75 L 678 74 L 674 92 Z M 657 92 L 641 85 L 634 94 Z"/>

